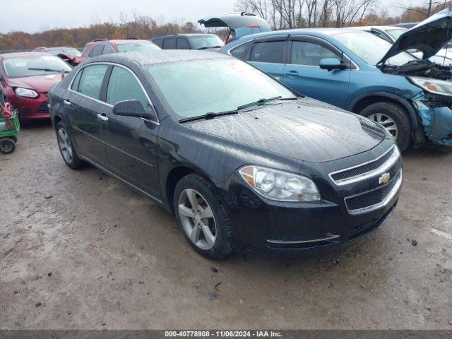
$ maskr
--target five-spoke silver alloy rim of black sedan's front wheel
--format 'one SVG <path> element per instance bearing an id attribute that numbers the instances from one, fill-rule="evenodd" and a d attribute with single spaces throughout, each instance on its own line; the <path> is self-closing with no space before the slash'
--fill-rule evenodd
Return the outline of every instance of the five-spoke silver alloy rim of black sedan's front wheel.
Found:
<path id="1" fill-rule="evenodd" d="M 213 248 L 217 227 L 206 199 L 194 189 L 184 189 L 178 200 L 179 218 L 184 232 L 198 248 Z"/>

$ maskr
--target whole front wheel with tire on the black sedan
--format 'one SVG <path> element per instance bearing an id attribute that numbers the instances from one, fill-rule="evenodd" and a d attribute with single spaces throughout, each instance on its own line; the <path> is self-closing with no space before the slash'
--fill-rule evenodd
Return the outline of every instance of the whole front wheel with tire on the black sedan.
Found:
<path id="1" fill-rule="evenodd" d="M 177 224 L 198 253 L 218 260 L 234 251 L 229 218 L 208 180 L 198 174 L 183 177 L 174 190 L 173 203 Z"/>

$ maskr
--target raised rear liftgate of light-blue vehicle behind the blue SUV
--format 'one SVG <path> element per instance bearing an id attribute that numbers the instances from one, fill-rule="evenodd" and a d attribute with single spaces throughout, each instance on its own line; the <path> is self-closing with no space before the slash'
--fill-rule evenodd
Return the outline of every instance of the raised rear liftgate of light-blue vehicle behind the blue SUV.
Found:
<path id="1" fill-rule="evenodd" d="M 249 13 L 226 13 L 220 16 L 208 16 L 198 20 L 206 28 L 227 27 L 234 30 L 235 37 L 242 37 L 261 32 L 270 32 L 270 25 L 261 17 Z"/>

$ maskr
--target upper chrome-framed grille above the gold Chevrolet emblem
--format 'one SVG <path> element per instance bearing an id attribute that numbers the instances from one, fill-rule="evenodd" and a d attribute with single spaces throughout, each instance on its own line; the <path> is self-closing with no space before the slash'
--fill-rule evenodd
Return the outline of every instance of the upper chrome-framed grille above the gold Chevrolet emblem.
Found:
<path id="1" fill-rule="evenodd" d="M 365 162 L 354 167 L 341 169 L 330 174 L 331 179 L 337 185 L 351 184 L 361 180 L 374 177 L 381 172 L 389 169 L 400 157 L 400 152 L 396 146 L 390 148 L 386 153 L 377 157 L 375 160 Z"/>

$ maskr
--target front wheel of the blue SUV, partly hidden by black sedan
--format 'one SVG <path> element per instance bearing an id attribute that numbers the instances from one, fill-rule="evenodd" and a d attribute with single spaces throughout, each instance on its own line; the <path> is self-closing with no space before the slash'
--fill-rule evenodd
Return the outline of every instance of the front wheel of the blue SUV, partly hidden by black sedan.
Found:
<path id="1" fill-rule="evenodd" d="M 399 105 L 393 102 L 376 102 L 365 107 L 359 114 L 379 122 L 393 136 L 396 136 L 396 142 L 401 151 L 410 147 L 412 131 L 410 115 Z M 394 125 L 396 130 L 393 129 Z"/>

